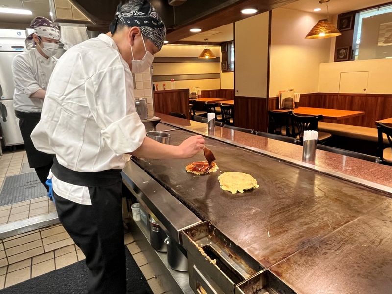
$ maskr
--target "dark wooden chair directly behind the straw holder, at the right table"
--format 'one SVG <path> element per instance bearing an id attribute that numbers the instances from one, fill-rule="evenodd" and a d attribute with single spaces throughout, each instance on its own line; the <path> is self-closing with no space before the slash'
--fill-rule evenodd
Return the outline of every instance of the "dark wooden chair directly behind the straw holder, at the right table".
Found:
<path id="1" fill-rule="evenodd" d="M 312 115 L 312 116 L 299 116 L 294 113 L 291 114 L 292 126 L 292 136 L 303 143 L 303 132 L 304 131 L 317 131 L 318 123 L 323 119 L 322 115 Z M 330 133 L 319 132 L 319 143 L 324 143 L 332 135 Z"/>

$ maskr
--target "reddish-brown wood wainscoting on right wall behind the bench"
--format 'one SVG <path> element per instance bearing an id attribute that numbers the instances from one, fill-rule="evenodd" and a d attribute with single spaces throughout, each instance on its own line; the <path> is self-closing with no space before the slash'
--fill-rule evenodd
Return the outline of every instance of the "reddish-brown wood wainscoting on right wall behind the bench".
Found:
<path id="1" fill-rule="evenodd" d="M 376 127 L 375 122 L 392 117 L 392 95 L 389 94 L 301 94 L 300 106 L 364 111 L 365 115 L 345 120 L 324 120 L 356 126 Z M 278 98 L 269 100 L 269 110 L 277 109 Z"/>

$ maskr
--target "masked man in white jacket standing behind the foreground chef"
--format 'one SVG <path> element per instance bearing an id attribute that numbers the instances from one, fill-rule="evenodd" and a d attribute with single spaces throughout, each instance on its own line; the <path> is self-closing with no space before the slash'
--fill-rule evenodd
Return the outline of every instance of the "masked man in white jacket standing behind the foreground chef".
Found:
<path id="1" fill-rule="evenodd" d="M 57 53 L 60 30 L 44 17 L 36 17 L 30 25 L 34 32 L 25 43 L 29 51 L 15 56 L 12 62 L 14 75 L 14 109 L 19 118 L 25 149 L 30 168 L 34 168 L 38 178 L 45 184 L 53 155 L 38 151 L 30 138 L 31 132 L 40 121 L 42 104 L 51 73 L 57 63 L 53 56 Z"/>

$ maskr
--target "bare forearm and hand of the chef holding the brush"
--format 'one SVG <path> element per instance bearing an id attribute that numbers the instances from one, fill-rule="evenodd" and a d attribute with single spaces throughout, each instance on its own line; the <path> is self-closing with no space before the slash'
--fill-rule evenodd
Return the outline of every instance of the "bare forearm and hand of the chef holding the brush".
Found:
<path id="1" fill-rule="evenodd" d="M 190 158 L 204 148 L 204 138 L 200 135 L 186 139 L 178 146 L 159 143 L 146 137 L 142 145 L 130 154 L 149 159 L 182 159 Z"/>

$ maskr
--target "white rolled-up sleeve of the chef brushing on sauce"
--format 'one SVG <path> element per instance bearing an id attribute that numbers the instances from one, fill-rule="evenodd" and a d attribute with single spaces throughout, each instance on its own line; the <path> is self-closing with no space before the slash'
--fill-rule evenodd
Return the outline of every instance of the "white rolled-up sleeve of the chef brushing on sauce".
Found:
<path id="1" fill-rule="evenodd" d="M 123 66 L 102 70 L 86 83 L 88 106 L 105 143 L 118 155 L 139 148 L 146 129 L 135 111 Z"/>

